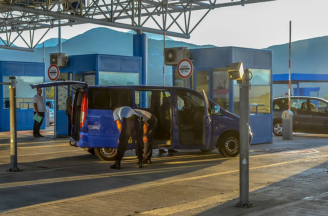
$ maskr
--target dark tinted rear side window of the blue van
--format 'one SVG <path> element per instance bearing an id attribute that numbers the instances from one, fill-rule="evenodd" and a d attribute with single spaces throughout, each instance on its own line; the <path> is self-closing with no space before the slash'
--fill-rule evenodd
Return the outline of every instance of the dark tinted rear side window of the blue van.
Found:
<path id="1" fill-rule="evenodd" d="M 89 88 L 89 109 L 111 110 L 120 106 L 132 107 L 131 89 Z"/>

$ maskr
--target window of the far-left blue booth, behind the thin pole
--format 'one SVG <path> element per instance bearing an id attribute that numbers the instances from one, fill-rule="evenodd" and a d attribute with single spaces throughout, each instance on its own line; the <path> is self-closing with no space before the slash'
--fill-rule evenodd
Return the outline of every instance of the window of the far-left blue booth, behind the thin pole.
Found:
<path id="1" fill-rule="evenodd" d="M 9 76 L 2 78 L 4 82 L 9 82 Z M 17 109 L 33 109 L 33 97 L 36 89 L 32 89 L 30 84 L 42 83 L 43 80 L 43 77 L 16 76 Z M 3 85 L 3 108 L 9 109 L 9 85 Z"/>

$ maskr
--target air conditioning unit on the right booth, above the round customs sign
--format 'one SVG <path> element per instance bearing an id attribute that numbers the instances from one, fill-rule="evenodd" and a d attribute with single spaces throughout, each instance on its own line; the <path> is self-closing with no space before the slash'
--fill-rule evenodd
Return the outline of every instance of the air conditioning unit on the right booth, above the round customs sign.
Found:
<path id="1" fill-rule="evenodd" d="M 181 59 L 188 58 L 188 47 L 170 47 L 165 48 L 165 64 L 166 65 L 176 65 Z"/>

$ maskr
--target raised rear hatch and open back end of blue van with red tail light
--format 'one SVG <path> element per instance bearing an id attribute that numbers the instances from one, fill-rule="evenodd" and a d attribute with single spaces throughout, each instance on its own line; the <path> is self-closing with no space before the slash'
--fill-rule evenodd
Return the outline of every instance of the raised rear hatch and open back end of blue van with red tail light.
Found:
<path id="1" fill-rule="evenodd" d="M 66 85 L 68 86 L 83 86 L 78 89 L 72 88 L 74 91 L 71 91 L 69 88 L 66 88 Z M 63 86 L 68 91 L 71 91 L 75 94 L 74 100 L 73 100 L 73 106 L 72 106 L 72 138 L 75 141 L 80 140 L 80 128 L 82 127 L 85 118 L 86 118 L 86 108 L 87 108 L 87 96 L 85 92 L 85 88 L 88 86 L 85 82 L 80 81 L 52 81 L 52 82 L 43 82 L 43 83 L 37 83 L 37 84 L 31 84 L 32 88 L 46 88 L 46 87 L 54 87 L 54 86 Z M 76 94 L 79 93 L 79 94 Z"/>

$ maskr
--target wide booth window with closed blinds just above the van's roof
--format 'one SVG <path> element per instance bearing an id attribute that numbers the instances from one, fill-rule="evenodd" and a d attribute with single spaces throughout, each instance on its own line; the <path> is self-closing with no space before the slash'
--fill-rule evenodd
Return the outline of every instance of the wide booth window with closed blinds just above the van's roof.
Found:
<path id="1" fill-rule="evenodd" d="M 99 85 L 140 85 L 140 74 L 99 71 Z"/>

